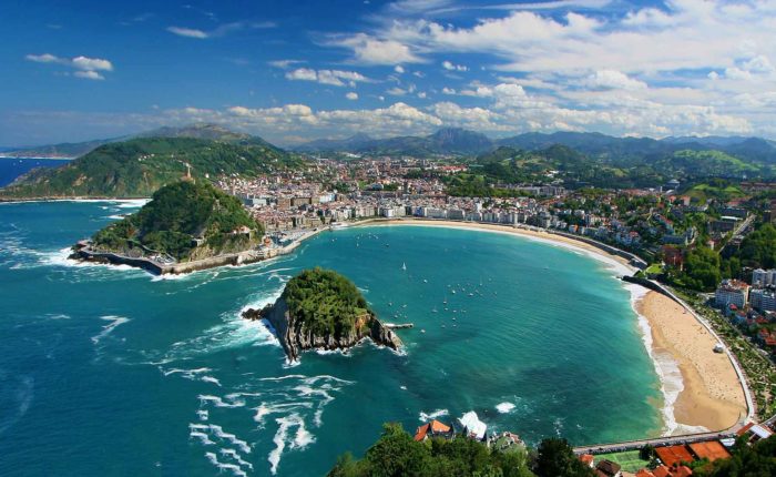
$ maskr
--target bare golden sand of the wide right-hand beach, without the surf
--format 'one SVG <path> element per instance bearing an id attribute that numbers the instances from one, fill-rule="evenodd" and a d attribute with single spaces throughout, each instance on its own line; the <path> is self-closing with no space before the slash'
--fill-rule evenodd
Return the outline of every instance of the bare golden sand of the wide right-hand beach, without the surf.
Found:
<path id="1" fill-rule="evenodd" d="M 650 323 L 654 354 L 670 354 L 682 373 L 684 389 L 674 404 L 683 426 L 726 429 L 746 415 L 746 400 L 733 364 L 714 353 L 716 338 L 684 307 L 665 295 L 649 292 L 636 309 Z"/>

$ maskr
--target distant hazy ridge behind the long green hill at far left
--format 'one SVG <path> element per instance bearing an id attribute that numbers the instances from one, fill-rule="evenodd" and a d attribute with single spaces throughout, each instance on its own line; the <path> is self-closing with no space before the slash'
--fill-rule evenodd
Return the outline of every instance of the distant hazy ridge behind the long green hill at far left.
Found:
<path id="1" fill-rule="evenodd" d="M 9 148 L 2 155 L 9 158 L 80 158 L 91 151 L 94 151 L 103 144 L 113 142 L 126 141 L 132 138 L 195 138 L 207 139 L 212 141 L 241 142 L 261 140 L 249 134 L 237 133 L 229 131 L 216 124 L 191 124 L 182 128 L 160 128 L 152 131 L 142 132 L 140 134 L 123 135 L 120 138 L 98 139 L 85 142 L 65 142 L 61 144 L 39 145 L 34 148 L 12 149 Z M 261 140 L 264 141 L 264 140 Z M 264 142 L 265 145 L 270 145 Z"/>

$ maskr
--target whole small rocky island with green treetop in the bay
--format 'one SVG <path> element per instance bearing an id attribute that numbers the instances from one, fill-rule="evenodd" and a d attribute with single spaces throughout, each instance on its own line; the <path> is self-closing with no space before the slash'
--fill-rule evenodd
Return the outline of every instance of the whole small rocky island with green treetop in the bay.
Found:
<path id="1" fill-rule="evenodd" d="M 302 272 L 274 304 L 248 309 L 243 317 L 269 322 L 290 361 L 305 349 L 347 349 L 366 337 L 391 349 L 401 346 L 353 282 L 319 267 Z"/>

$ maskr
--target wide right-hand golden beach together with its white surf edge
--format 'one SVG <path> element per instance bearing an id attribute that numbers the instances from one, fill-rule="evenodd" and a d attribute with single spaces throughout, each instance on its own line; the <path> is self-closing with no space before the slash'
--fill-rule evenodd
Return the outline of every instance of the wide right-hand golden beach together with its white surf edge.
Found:
<path id="1" fill-rule="evenodd" d="M 747 415 L 744 388 L 727 355 L 714 352 L 716 337 L 661 293 L 647 291 L 633 305 L 661 378 L 664 435 L 736 426 Z"/>

